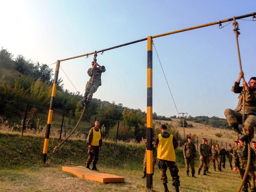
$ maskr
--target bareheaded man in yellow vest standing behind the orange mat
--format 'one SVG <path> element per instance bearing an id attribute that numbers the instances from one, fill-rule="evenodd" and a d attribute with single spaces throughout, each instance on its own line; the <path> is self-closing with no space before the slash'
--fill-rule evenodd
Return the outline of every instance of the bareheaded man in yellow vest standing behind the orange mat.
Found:
<path id="1" fill-rule="evenodd" d="M 90 169 L 90 163 L 92 162 L 92 170 L 98 171 L 96 163 L 99 160 L 99 150 L 102 149 L 102 138 L 99 129 L 100 121 L 95 120 L 94 127 L 90 129 L 86 144 L 88 145 L 88 159 L 86 162 L 86 168 Z"/>

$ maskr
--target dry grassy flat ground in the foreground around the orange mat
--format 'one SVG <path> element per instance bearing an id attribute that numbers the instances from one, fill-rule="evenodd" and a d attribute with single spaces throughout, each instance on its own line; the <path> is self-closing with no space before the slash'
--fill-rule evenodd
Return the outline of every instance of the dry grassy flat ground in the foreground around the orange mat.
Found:
<path id="1" fill-rule="evenodd" d="M 116 174 L 125 178 L 124 183 L 102 184 L 83 180 L 70 173 L 63 172 L 61 166 L 36 168 L 34 170 L 0 170 L 0 191 L 8 192 L 147 192 L 146 180 L 140 170 L 120 170 L 98 166 L 101 172 Z M 186 177 L 184 168 L 179 169 L 181 192 L 233 192 L 240 179 L 228 168 L 223 172 L 212 172 L 210 176 Z M 197 170 L 197 169 L 196 169 Z M 212 171 L 212 169 L 210 169 Z M 168 187 L 174 191 L 170 173 Z M 163 191 L 160 173 L 156 169 L 153 176 L 153 191 Z"/>

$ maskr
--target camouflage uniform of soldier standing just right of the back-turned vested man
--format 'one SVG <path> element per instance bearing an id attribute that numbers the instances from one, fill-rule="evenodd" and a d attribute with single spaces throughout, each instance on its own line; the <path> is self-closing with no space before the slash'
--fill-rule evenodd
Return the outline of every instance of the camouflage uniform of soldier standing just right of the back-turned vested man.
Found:
<path id="1" fill-rule="evenodd" d="M 191 142 L 186 142 L 183 146 L 183 156 L 186 156 L 185 164 L 186 164 L 186 173 L 188 175 L 189 173 L 189 164 L 191 166 L 191 172 L 192 175 L 195 174 L 195 161 L 194 158 L 196 158 L 196 146 Z"/>

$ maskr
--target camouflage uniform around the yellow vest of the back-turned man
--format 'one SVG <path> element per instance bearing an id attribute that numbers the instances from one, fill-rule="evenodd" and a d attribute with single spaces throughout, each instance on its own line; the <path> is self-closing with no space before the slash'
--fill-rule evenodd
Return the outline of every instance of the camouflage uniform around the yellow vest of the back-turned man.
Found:
<path id="1" fill-rule="evenodd" d="M 170 134 L 168 132 L 162 132 L 161 136 L 163 138 L 168 138 L 170 136 Z M 158 136 L 156 138 L 156 145 L 158 146 L 159 143 L 159 139 Z M 173 137 L 172 139 L 172 143 L 173 143 L 173 147 L 174 149 L 176 149 L 178 147 L 178 142 L 175 139 L 175 137 Z M 162 160 L 159 159 L 158 160 L 158 164 L 159 164 L 159 168 L 160 168 L 160 175 L 161 175 L 161 182 L 162 183 L 167 183 L 167 175 L 166 175 L 166 170 L 167 168 L 170 170 L 171 176 L 172 176 L 172 185 L 173 186 L 180 186 L 180 180 L 179 180 L 179 176 L 178 176 L 178 172 L 179 169 L 176 166 L 176 163 L 173 161 L 168 161 L 168 160 Z"/>

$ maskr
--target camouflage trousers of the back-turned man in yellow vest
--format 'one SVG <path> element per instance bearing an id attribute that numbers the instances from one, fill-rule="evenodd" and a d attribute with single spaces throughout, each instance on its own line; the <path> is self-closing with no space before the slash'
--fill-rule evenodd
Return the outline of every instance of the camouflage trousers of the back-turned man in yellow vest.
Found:
<path id="1" fill-rule="evenodd" d="M 176 166 L 174 161 L 167 161 L 167 160 L 159 160 L 158 161 L 160 165 L 160 176 L 161 176 L 161 182 L 167 183 L 167 175 L 166 170 L 167 168 L 170 170 L 171 176 L 172 176 L 172 185 L 173 186 L 180 186 L 180 180 L 178 176 L 179 169 Z"/>

